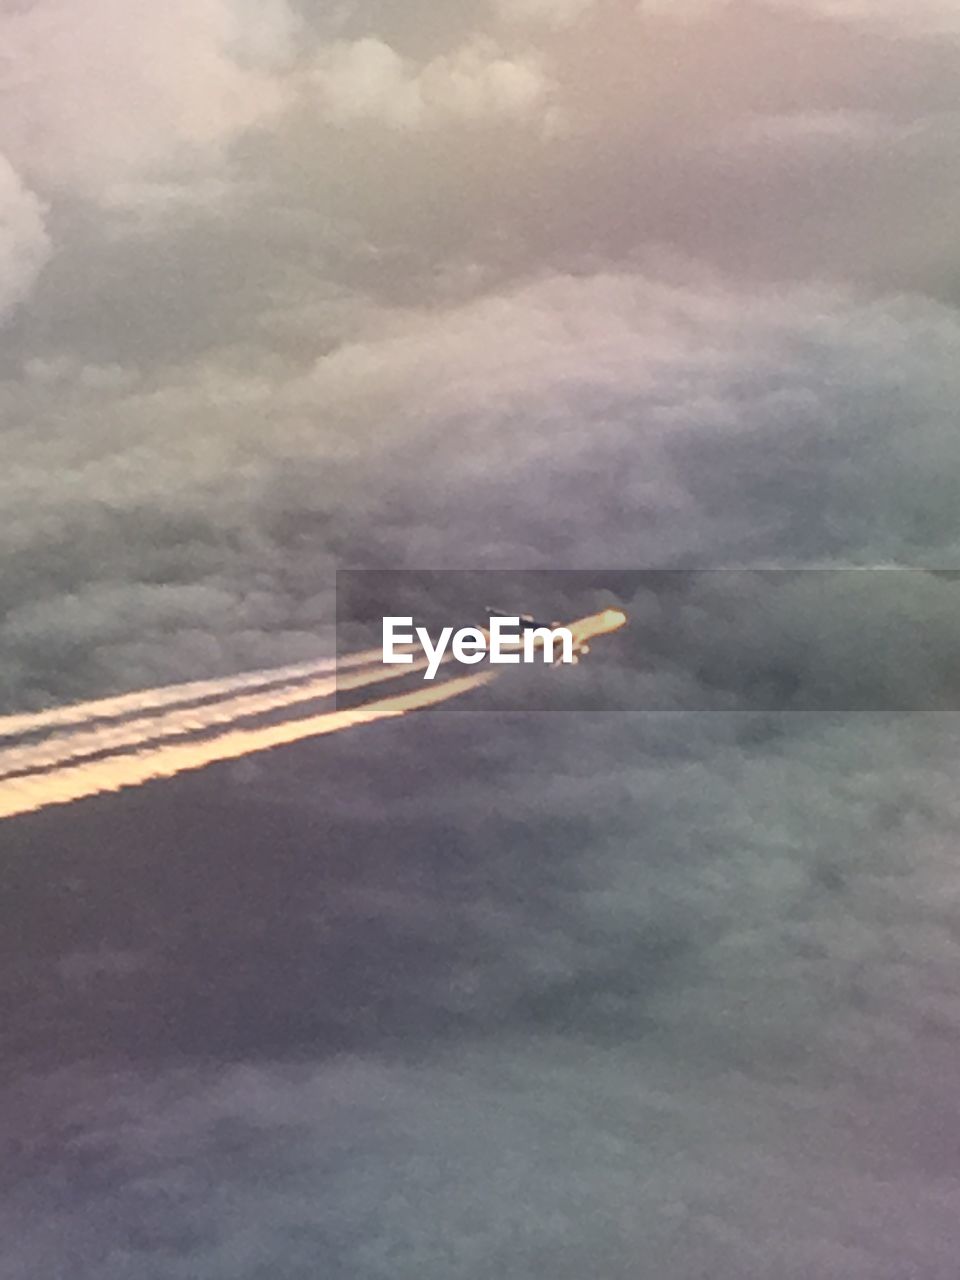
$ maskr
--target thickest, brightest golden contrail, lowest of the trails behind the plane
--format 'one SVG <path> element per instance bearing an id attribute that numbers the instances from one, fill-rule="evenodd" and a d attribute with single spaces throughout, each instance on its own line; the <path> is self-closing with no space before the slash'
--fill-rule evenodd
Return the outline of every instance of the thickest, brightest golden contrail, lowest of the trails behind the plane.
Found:
<path id="1" fill-rule="evenodd" d="M 495 678 L 493 672 L 483 671 L 440 685 L 424 685 L 412 692 L 383 698 L 348 710 L 326 712 L 282 724 L 233 730 L 196 742 L 161 744 L 145 751 L 67 765 L 49 773 L 26 774 L 0 786 L 0 818 L 36 813 L 50 805 L 69 804 L 72 800 L 106 795 L 160 778 L 173 778 L 178 773 L 201 769 L 207 764 L 237 760 L 252 751 L 266 751 L 307 737 L 320 737 L 358 724 L 372 724 L 376 721 L 406 716 L 412 710 L 449 701 L 489 684 L 493 678 Z"/>

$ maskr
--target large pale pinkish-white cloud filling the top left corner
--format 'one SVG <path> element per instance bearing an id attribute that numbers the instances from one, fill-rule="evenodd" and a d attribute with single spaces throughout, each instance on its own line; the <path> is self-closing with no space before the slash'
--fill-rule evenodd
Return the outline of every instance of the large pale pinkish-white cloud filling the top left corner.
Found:
<path id="1" fill-rule="evenodd" d="M 45 187 L 102 195 L 210 157 L 284 101 L 284 0 L 38 0 L 0 14 L 0 146 Z M 259 61 L 268 65 L 259 65 Z"/>

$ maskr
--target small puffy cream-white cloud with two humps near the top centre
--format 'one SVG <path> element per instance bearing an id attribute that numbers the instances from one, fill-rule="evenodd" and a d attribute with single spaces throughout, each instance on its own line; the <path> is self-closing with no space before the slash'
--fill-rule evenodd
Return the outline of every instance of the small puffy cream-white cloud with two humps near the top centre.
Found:
<path id="1" fill-rule="evenodd" d="M 335 123 L 380 120 L 411 131 L 452 120 L 544 119 L 552 96 L 536 54 L 511 56 L 480 37 L 424 65 L 381 40 L 339 41 L 317 56 L 314 83 Z"/>

